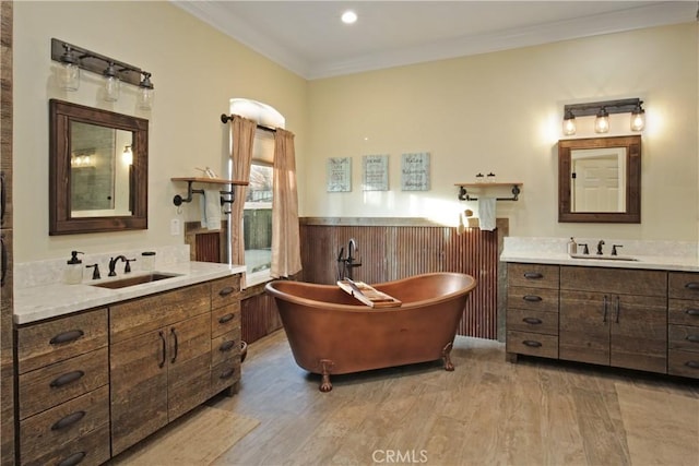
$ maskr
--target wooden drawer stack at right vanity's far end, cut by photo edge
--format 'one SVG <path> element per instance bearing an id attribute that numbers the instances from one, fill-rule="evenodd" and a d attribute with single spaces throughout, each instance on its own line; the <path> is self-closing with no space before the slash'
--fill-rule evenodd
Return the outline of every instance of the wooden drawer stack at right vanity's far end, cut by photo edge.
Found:
<path id="1" fill-rule="evenodd" d="M 699 379 L 699 273 L 671 272 L 667 373 Z"/>

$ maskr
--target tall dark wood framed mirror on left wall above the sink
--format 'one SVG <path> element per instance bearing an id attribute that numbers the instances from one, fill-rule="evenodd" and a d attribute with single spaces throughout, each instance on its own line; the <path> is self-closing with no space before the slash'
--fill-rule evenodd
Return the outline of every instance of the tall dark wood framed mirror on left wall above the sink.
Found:
<path id="1" fill-rule="evenodd" d="M 147 228 L 149 120 L 49 100 L 49 235 Z"/>

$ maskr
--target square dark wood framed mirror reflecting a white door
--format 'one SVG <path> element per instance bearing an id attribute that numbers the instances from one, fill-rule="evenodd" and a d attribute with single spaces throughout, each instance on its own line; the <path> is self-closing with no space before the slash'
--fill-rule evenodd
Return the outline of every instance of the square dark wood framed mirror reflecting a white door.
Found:
<path id="1" fill-rule="evenodd" d="M 641 223 L 641 136 L 558 141 L 558 222 Z"/>

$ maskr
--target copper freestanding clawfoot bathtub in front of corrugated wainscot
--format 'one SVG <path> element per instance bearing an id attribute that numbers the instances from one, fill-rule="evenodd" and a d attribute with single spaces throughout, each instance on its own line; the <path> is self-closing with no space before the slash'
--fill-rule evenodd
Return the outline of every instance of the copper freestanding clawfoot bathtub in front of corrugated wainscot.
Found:
<path id="1" fill-rule="evenodd" d="M 372 285 L 400 301 L 398 308 L 370 308 L 335 285 L 275 280 L 275 298 L 296 363 L 321 374 L 320 391 L 332 390 L 331 374 L 442 359 L 450 351 L 475 279 L 431 273 Z"/>

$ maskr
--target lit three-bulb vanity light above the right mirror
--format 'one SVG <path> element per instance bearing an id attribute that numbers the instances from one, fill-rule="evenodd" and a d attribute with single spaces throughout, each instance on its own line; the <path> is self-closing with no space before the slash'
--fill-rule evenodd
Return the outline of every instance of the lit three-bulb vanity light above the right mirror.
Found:
<path id="1" fill-rule="evenodd" d="M 609 132 L 609 113 L 631 113 L 631 131 L 643 131 L 645 128 L 643 100 L 639 98 L 625 98 L 564 106 L 562 132 L 567 136 L 576 134 L 576 117 L 589 117 L 592 115 L 596 117 L 594 120 L 594 131 L 596 133 Z"/>

